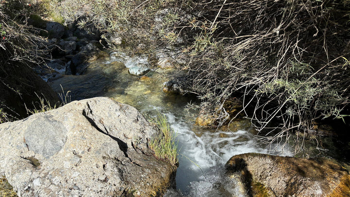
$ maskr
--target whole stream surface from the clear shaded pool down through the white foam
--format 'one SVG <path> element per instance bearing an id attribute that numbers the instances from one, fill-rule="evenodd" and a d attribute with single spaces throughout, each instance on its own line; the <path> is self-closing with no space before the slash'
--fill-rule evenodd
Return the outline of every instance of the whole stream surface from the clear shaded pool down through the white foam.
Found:
<path id="1" fill-rule="evenodd" d="M 247 152 L 266 153 L 247 130 L 227 132 L 194 126 L 184 119 L 187 103 L 198 102 L 195 97 L 165 94 L 162 84 L 178 75 L 175 69 L 156 69 L 144 77 L 132 76 L 126 66 L 144 64 L 127 59 L 123 54 L 111 54 L 110 59 L 93 62 L 83 75 L 64 75 L 50 84 L 54 90 L 71 91 L 72 100 L 107 96 L 137 108 L 141 113 L 155 116 L 165 113 L 171 127 L 177 132 L 179 168 L 176 173 L 176 190 L 165 197 L 243 197 L 245 191 L 228 177 L 218 180 L 224 173 L 224 164 L 233 156 Z"/>

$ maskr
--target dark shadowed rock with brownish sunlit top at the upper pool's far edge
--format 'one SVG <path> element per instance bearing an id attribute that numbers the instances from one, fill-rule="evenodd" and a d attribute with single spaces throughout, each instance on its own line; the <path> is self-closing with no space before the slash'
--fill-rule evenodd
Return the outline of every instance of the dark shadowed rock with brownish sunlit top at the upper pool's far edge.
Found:
<path id="1" fill-rule="evenodd" d="M 109 54 L 101 51 L 91 43 L 86 45 L 79 53 L 72 57 L 70 69 L 73 75 L 81 75 L 84 73 L 89 63 L 101 57 L 109 57 Z"/>

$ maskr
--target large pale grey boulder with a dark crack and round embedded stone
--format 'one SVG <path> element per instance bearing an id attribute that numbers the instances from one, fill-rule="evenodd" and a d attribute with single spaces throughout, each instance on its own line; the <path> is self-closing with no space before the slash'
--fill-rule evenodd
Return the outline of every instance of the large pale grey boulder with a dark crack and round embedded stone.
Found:
<path id="1" fill-rule="evenodd" d="M 106 97 L 0 124 L 0 173 L 18 196 L 162 195 L 176 167 L 148 148 L 160 135 L 133 107 Z"/>

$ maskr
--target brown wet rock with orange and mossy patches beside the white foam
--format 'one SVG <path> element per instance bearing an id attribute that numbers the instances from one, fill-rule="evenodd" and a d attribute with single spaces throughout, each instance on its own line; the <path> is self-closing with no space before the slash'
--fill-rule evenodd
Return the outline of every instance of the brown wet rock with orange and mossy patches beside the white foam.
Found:
<path id="1" fill-rule="evenodd" d="M 226 163 L 226 176 L 244 183 L 253 197 L 350 195 L 349 171 L 326 158 L 304 159 L 247 153 Z"/>

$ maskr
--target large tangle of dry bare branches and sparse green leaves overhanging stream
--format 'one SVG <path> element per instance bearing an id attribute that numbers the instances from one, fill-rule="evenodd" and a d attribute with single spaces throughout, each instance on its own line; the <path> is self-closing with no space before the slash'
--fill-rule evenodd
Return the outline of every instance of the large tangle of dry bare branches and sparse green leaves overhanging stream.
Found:
<path id="1" fill-rule="evenodd" d="M 211 103 L 202 107 L 220 111 L 222 121 L 227 113 L 217 109 L 237 93 L 259 131 L 280 120 L 263 141 L 287 142 L 311 134 L 319 118 L 349 115 L 347 0 L 80 2 L 110 46 L 113 34 L 135 53 L 172 52 L 193 91 Z"/>

